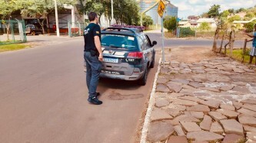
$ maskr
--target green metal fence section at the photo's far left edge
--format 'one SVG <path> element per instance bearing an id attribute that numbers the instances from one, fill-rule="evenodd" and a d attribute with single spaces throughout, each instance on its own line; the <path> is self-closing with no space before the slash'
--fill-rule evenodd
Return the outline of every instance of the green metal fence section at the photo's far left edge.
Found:
<path id="1" fill-rule="evenodd" d="M 26 41 L 25 21 L 0 20 L 0 44 L 15 44 Z"/>

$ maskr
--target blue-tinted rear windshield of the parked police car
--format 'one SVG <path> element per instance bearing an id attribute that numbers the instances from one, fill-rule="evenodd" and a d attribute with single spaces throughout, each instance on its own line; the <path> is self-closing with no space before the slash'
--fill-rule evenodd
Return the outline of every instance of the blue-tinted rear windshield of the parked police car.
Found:
<path id="1" fill-rule="evenodd" d="M 137 39 L 129 35 L 101 34 L 101 45 L 111 48 L 137 49 Z"/>

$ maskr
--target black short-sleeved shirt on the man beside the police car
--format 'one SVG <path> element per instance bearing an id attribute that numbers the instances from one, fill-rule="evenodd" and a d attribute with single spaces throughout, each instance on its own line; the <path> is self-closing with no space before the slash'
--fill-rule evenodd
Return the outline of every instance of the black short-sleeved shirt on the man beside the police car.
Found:
<path id="1" fill-rule="evenodd" d="M 90 23 L 84 31 L 85 51 L 96 50 L 95 36 L 101 40 L 101 28 L 98 24 Z"/>

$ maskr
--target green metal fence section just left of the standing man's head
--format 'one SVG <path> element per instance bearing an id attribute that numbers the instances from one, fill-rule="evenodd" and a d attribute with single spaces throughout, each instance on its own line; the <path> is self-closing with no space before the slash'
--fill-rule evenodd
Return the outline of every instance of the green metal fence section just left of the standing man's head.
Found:
<path id="1" fill-rule="evenodd" d="M 68 21 L 68 36 L 69 37 L 76 37 L 82 36 L 87 23 L 79 23 Z"/>

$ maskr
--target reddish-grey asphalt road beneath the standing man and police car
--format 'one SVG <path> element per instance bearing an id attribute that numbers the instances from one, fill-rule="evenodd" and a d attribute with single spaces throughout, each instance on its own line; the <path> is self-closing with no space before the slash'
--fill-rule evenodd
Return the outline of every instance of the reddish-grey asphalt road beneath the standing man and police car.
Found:
<path id="1" fill-rule="evenodd" d="M 101 80 L 103 104 L 95 106 L 87 102 L 82 37 L 48 39 L 0 54 L 0 142 L 135 142 L 158 62 L 146 86 Z"/>

